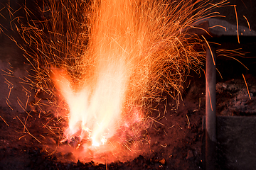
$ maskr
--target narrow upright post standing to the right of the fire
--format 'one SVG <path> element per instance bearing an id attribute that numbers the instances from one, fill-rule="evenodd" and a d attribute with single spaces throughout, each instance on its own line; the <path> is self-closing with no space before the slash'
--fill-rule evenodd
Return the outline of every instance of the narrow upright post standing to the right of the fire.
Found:
<path id="1" fill-rule="evenodd" d="M 216 168 L 216 56 L 213 46 L 206 46 L 206 169 Z"/>

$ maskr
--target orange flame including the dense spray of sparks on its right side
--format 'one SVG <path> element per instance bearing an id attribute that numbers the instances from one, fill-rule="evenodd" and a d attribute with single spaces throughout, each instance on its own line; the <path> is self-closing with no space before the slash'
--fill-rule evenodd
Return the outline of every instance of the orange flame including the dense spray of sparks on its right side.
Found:
<path id="1" fill-rule="evenodd" d="M 127 132 L 134 123 L 142 122 L 142 98 L 146 92 L 163 89 L 159 87 L 159 83 L 166 86 L 165 82 L 161 85 L 162 79 L 167 79 L 177 91 L 180 89 L 177 84 L 184 73 L 178 67 L 189 68 L 199 60 L 198 53 L 181 35 L 182 26 L 187 27 L 193 19 L 174 19 L 174 25 L 170 25 L 169 12 L 176 11 L 170 6 L 153 1 L 92 1 L 87 10 L 90 29 L 86 50 L 80 58 L 80 77 L 73 77 L 65 67 L 52 71 L 55 85 L 69 108 L 65 140 L 85 140 L 84 151 L 125 142 L 127 136 L 119 130 Z M 176 57 L 181 61 L 177 62 Z M 164 60 L 171 60 L 171 66 L 178 71 L 172 72 L 171 78 L 170 74 L 163 78 Z M 157 80 L 151 82 L 152 79 Z M 107 147 L 100 150 L 108 151 Z"/>

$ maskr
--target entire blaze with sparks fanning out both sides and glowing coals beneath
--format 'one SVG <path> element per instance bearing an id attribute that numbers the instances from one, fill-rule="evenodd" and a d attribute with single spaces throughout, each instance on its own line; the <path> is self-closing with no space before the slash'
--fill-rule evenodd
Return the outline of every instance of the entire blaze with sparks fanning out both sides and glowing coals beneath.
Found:
<path id="1" fill-rule="evenodd" d="M 131 150 L 146 108 L 164 91 L 178 100 L 183 77 L 201 65 L 201 40 L 188 29 L 223 4 L 49 0 L 38 4 L 40 22 L 25 6 L 17 29 L 35 72 L 27 81 L 51 98 L 33 105 L 55 107 L 65 120 L 61 142 L 78 140 L 82 157 Z"/>

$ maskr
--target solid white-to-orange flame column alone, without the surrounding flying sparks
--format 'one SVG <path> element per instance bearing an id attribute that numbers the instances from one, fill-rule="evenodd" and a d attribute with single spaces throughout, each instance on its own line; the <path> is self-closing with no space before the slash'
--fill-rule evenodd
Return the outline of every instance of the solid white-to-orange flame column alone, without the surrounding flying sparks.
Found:
<path id="1" fill-rule="evenodd" d="M 136 81 L 143 84 L 148 77 L 146 70 L 140 70 L 140 64 L 147 64 L 142 57 L 145 36 L 140 35 L 141 30 L 138 33 L 134 15 L 131 1 L 102 1 L 92 26 L 90 56 L 83 56 L 84 60 L 94 60 L 92 66 L 86 67 L 93 72 L 85 73 L 74 85 L 67 72 L 54 71 L 55 84 L 68 103 L 68 140 L 79 136 L 100 147 L 124 120 L 137 113 L 126 113 L 124 109 L 135 104 L 134 95 L 138 94 L 132 94 L 131 89 L 137 88 Z"/>

